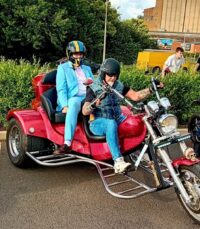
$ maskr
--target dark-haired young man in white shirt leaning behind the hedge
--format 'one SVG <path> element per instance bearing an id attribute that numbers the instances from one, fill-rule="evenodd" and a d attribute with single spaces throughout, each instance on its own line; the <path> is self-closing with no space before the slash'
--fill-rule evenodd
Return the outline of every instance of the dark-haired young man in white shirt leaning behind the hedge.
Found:
<path id="1" fill-rule="evenodd" d="M 165 76 L 167 73 L 176 73 L 179 71 L 180 67 L 185 63 L 183 53 L 183 48 L 176 48 L 176 53 L 169 56 L 165 61 L 162 69 L 162 76 Z"/>

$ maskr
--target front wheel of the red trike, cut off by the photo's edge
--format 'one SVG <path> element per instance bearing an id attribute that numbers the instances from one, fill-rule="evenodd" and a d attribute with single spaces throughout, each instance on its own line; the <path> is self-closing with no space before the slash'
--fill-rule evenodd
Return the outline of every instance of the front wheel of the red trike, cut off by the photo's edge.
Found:
<path id="1" fill-rule="evenodd" d="M 182 195 L 177 190 L 179 201 L 190 217 L 200 224 L 200 165 L 180 166 L 179 172 L 180 179 L 190 196 L 191 205 L 185 203 Z"/>

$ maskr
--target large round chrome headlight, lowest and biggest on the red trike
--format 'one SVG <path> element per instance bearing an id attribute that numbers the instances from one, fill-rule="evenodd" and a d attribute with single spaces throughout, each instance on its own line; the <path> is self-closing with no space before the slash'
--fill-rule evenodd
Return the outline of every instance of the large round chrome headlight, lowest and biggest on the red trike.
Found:
<path id="1" fill-rule="evenodd" d="M 178 120 L 176 118 L 176 116 L 172 115 L 172 114 L 165 114 L 162 115 L 159 120 L 159 126 L 160 126 L 160 131 L 164 134 L 164 135 L 169 135 L 171 133 L 173 133 L 178 126 Z"/>

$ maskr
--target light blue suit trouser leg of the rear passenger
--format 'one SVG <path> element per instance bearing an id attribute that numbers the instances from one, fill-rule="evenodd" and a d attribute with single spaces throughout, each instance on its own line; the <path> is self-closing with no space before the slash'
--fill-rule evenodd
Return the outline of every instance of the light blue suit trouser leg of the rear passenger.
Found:
<path id="1" fill-rule="evenodd" d="M 68 110 L 65 118 L 65 141 L 72 141 L 74 137 L 81 102 L 84 98 L 85 96 L 74 96 L 68 100 Z"/>

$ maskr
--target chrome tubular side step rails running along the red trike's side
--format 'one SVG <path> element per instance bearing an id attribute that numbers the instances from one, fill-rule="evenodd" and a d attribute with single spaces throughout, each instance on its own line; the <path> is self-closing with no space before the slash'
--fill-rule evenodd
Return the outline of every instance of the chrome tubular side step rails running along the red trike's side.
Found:
<path id="1" fill-rule="evenodd" d="M 113 166 L 106 162 L 96 161 L 90 158 L 86 158 L 79 155 L 73 155 L 73 154 L 64 154 L 61 156 L 55 156 L 53 154 L 50 154 L 46 156 L 44 155 L 40 156 L 39 151 L 26 152 L 26 154 L 37 164 L 50 166 L 50 167 L 59 166 L 59 165 L 68 165 L 68 164 L 78 163 L 78 162 L 90 163 L 96 166 L 106 191 L 114 197 L 123 198 L 123 199 L 133 199 L 150 192 L 155 192 L 157 190 L 157 188 L 151 188 L 141 182 L 138 182 L 129 174 L 115 174 Z M 105 173 L 109 173 L 109 174 L 105 174 Z M 124 177 L 126 179 L 124 179 Z M 115 179 L 115 181 L 109 181 L 109 178 Z M 132 187 L 124 189 L 123 184 L 127 184 L 127 183 L 131 184 Z M 115 188 L 118 187 L 120 190 L 119 191 L 112 190 L 112 187 Z M 136 190 L 137 193 L 133 193 L 133 194 L 130 193 Z"/>

